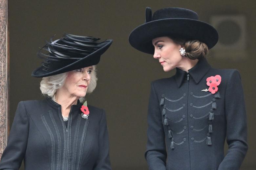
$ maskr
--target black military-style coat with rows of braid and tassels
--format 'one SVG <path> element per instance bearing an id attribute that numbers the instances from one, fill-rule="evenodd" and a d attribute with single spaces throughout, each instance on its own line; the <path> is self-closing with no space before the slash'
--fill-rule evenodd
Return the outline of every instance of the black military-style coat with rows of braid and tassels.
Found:
<path id="1" fill-rule="evenodd" d="M 202 91 L 216 75 L 218 92 Z M 201 59 L 189 73 L 177 68 L 175 76 L 153 81 L 147 135 L 149 170 L 239 170 L 248 148 L 239 72 Z"/>

